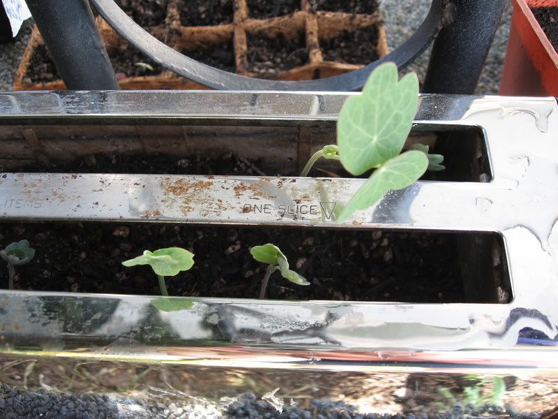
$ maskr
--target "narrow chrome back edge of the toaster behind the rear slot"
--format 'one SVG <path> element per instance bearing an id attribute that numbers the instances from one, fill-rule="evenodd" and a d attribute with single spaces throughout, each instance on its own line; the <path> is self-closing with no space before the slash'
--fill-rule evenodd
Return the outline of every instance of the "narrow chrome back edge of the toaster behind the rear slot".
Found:
<path id="1" fill-rule="evenodd" d="M 0 122 L 13 124 L 42 120 L 52 124 L 58 119 L 103 121 L 126 119 L 138 123 L 152 119 L 177 119 L 195 123 L 199 119 L 257 119 L 273 121 L 312 121 L 337 119 L 345 99 L 358 93 L 305 91 L 17 91 L 0 92 Z M 504 105 L 511 98 L 481 96 L 422 95 L 417 121 L 459 120 L 473 101 Z M 550 105 L 548 98 L 515 98 L 515 103 L 535 101 Z M 546 105 L 544 105 L 546 104 Z M 540 109 L 538 109 L 540 111 Z"/>

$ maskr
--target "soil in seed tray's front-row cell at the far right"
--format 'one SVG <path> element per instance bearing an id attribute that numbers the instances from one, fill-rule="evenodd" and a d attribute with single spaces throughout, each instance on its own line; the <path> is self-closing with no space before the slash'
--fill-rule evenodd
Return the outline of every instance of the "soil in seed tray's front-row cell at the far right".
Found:
<path id="1" fill-rule="evenodd" d="M 375 25 L 354 32 L 343 32 L 335 38 L 319 41 L 325 61 L 368 64 L 379 58 L 378 29 Z"/>

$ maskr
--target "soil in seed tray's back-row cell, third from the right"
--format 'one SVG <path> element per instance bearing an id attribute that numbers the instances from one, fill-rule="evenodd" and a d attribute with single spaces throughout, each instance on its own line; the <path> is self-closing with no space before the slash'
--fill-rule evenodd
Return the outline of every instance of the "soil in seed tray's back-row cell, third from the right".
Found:
<path id="1" fill-rule="evenodd" d="M 231 23 L 233 0 L 183 0 L 180 21 L 183 26 L 211 26 Z"/>

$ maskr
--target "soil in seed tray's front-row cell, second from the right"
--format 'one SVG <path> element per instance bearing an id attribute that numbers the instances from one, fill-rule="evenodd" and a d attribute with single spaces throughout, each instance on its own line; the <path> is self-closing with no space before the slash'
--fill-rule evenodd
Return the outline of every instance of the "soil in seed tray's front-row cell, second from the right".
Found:
<path id="1" fill-rule="evenodd" d="M 280 71 L 302 66 L 308 62 L 308 50 L 303 34 L 297 38 L 275 38 L 264 34 L 248 34 L 248 71 L 263 78 L 273 78 Z"/>

